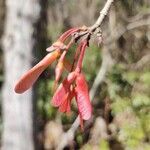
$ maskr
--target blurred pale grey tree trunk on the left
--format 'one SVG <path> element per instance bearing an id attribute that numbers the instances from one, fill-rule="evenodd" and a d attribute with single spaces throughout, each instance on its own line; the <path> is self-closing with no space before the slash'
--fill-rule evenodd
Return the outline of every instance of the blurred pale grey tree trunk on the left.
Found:
<path id="1" fill-rule="evenodd" d="M 4 130 L 2 149 L 34 149 L 32 129 L 33 91 L 14 92 L 17 79 L 32 66 L 34 24 L 40 15 L 38 0 L 6 0 L 3 37 L 5 81 L 2 94 Z"/>

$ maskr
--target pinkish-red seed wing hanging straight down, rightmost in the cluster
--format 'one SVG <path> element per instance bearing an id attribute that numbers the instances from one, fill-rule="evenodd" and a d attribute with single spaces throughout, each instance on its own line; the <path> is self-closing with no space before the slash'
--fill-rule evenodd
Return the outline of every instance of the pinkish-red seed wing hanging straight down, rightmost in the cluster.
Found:
<path id="1" fill-rule="evenodd" d="M 86 80 L 83 74 L 76 78 L 76 101 L 79 113 L 84 120 L 90 119 L 92 115 L 92 106 L 89 99 L 89 92 Z"/>

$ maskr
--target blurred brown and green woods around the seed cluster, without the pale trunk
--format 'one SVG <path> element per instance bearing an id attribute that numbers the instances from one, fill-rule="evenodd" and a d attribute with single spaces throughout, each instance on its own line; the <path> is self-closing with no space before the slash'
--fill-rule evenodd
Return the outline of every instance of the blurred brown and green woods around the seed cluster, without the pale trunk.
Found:
<path id="1" fill-rule="evenodd" d="M 2 88 L 6 72 L 3 50 L 7 23 L 6 1 L 0 0 L 1 145 L 6 117 L 3 116 L 2 104 L 5 103 Z M 40 61 L 47 53 L 45 49 L 67 29 L 93 25 L 105 2 L 37 1 L 41 10 L 33 25 L 32 64 Z M 53 64 L 40 76 L 32 91 L 32 138 L 36 150 L 58 147 L 81 150 L 150 150 L 150 1 L 114 1 L 101 28 L 103 44 L 99 47 L 95 39 L 91 40 L 83 66 L 92 99 L 92 119 L 84 123 L 84 132 L 78 127 L 68 139 L 62 138 L 72 129 L 78 111 L 74 103 L 70 115 L 62 114 L 50 105 L 55 69 Z M 24 53 L 26 51 L 27 49 Z M 68 58 L 71 57 L 72 51 Z M 15 59 L 17 58 L 14 55 Z M 19 73 L 18 78 L 25 71 L 27 70 Z M 11 121 L 15 122 L 15 118 Z M 12 137 L 12 134 L 10 136 Z M 63 143 L 63 140 L 66 141 Z"/>

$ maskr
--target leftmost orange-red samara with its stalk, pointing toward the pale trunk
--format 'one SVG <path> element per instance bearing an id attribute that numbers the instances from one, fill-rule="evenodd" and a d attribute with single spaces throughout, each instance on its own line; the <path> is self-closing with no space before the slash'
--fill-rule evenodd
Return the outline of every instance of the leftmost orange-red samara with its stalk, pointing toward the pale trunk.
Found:
<path id="1" fill-rule="evenodd" d="M 78 30 L 79 30 L 78 28 L 72 28 L 66 31 L 64 34 L 62 34 L 62 36 L 59 37 L 57 42 L 55 42 L 54 44 L 52 44 L 52 46 L 47 48 L 47 51 L 51 51 L 51 53 L 47 54 L 37 65 L 31 68 L 26 74 L 24 74 L 20 78 L 20 80 L 17 82 L 15 86 L 15 92 L 23 93 L 26 90 L 28 90 L 35 83 L 35 81 L 38 79 L 41 73 L 56 59 L 58 59 L 62 51 L 66 50 L 66 48 L 69 49 L 69 47 L 66 46 L 63 42 L 69 36 L 71 36 L 72 33 L 77 32 Z"/>

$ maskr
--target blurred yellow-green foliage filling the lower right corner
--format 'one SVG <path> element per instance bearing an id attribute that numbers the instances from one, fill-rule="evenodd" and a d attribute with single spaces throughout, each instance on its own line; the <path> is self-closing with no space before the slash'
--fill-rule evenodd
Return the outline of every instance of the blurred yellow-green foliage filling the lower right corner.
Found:
<path id="1" fill-rule="evenodd" d="M 129 150 L 147 150 L 150 147 L 149 75 L 149 71 L 127 71 L 117 65 L 108 76 L 111 112 L 119 130 L 116 136 Z"/>

